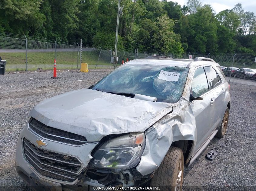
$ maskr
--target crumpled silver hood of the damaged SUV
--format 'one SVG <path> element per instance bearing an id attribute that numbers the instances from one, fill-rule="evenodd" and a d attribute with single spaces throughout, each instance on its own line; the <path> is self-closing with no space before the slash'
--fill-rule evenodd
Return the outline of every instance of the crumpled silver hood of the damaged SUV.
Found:
<path id="1" fill-rule="evenodd" d="M 79 89 L 42 101 L 30 116 L 95 142 L 109 134 L 143 132 L 171 111 L 170 103 Z"/>

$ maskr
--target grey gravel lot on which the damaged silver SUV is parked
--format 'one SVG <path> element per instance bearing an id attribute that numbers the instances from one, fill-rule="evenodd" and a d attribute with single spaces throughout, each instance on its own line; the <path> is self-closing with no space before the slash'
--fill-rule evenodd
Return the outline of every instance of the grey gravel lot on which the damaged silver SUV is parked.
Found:
<path id="1" fill-rule="evenodd" d="M 59 72 L 30 72 L 0 75 L 0 190 L 29 190 L 14 167 L 19 132 L 29 111 L 42 100 L 79 88 L 88 88 L 109 69 Z M 32 78 L 32 79 L 31 79 Z M 239 79 L 238 79 L 239 80 Z M 214 138 L 201 156 L 185 168 L 183 190 L 256 189 L 256 87 L 231 81 L 231 110 L 227 133 Z M 217 148 L 213 161 L 205 154 Z"/>

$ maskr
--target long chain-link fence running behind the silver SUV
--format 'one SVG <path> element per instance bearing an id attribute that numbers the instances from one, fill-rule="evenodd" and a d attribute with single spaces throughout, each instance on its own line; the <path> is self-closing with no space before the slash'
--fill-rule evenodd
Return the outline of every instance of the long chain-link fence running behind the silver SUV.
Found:
<path id="1" fill-rule="evenodd" d="M 196 57 L 207 57 L 214 59 L 215 62 L 228 69 L 223 70 L 227 75 L 228 81 L 251 80 L 256 75 L 250 75 L 245 71 L 236 71 L 237 68 L 256 69 L 255 56 L 245 54 L 213 54 L 213 53 L 138 53 L 118 51 L 118 65 L 126 60 L 144 59 L 148 56 L 166 56 L 173 59 L 195 59 Z M 56 59 L 57 69 L 80 69 L 81 61 L 88 63 L 89 69 L 94 68 L 113 68 L 111 59 L 112 49 L 92 47 L 79 43 L 63 42 L 50 39 L 36 39 L 35 37 L 26 37 L 25 35 L 16 35 L 11 33 L 0 33 L 0 56 L 7 60 L 6 71 L 35 71 L 38 69 L 51 70 L 53 62 Z M 228 71 L 228 72 L 227 72 Z M 240 72 L 240 75 L 235 73 Z M 244 73 L 242 73 L 244 72 Z M 251 72 L 253 73 L 253 72 Z M 256 72 L 255 72 L 256 73 Z"/>

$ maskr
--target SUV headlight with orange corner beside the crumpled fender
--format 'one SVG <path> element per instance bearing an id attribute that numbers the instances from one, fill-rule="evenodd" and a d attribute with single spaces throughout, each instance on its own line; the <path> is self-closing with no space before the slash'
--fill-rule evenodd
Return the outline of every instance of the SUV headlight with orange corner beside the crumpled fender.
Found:
<path id="1" fill-rule="evenodd" d="M 93 155 L 93 165 L 118 172 L 137 165 L 145 145 L 143 132 L 130 133 L 105 142 Z"/>

